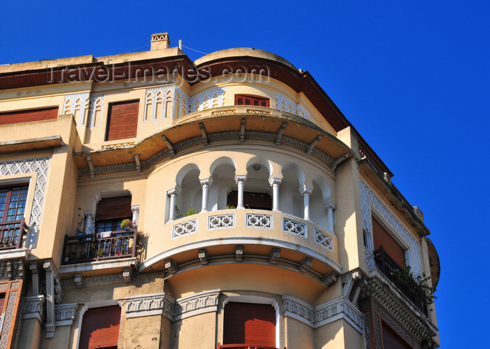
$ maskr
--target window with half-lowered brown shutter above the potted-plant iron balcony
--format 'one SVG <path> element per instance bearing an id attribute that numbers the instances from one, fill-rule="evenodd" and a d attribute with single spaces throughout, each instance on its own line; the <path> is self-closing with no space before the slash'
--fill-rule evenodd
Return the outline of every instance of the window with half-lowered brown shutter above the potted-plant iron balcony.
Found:
<path id="1" fill-rule="evenodd" d="M 110 197 L 97 204 L 95 213 L 95 232 L 121 230 L 121 222 L 132 220 L 131 197 Z"/>

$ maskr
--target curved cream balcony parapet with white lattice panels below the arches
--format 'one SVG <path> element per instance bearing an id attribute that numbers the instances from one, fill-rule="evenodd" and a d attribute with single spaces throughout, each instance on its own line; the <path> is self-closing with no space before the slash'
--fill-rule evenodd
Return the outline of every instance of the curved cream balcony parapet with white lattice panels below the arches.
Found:
<path id="1" fill-rule="evenodd" d="M 334 234 L 274 211 L 230 209 L 179 218 L 150 236 L 146 252 L 150 257 L 139 271 L 165 269 L 167 275 L 220 262 L 276 264 L 324 284 L 325 275 L 341 273 Z"/>

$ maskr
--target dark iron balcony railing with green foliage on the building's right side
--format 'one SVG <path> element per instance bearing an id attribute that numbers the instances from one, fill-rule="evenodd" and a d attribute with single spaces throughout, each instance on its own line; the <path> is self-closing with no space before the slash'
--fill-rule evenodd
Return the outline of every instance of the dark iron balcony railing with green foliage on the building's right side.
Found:
<path id="1" fill-rule="evenodd" d="M 413 278 L 404 273 L 404 269 L 386 253 L 383 246 L 380 246 L 373 254 L 377 269 L 391 280 L 398 290 L 412 301 L 416 308 L 428 316 L 426 292 L 421 290 Z"/>

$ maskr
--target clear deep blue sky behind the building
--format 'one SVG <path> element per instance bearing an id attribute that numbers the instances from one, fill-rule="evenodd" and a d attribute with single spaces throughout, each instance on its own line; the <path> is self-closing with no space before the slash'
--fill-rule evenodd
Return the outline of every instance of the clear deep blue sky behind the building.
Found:
<path id="1" fill-rule="evenodd" d="M 0 64 L 148 50 L 168 31 L 172 45 L 260 48 L 308 70 L 424 213 L 442 264 L 442 348 L 486 347 L 489 3 L 231 3 L 8 1 Z"/>

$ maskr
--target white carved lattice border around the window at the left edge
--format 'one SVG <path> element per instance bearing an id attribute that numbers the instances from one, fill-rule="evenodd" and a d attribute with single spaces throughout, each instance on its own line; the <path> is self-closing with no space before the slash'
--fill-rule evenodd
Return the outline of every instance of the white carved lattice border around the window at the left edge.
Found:
<path id="1" fill-rule="evenodd" d="M 29 233 L 26 247 L 35 248 L 38 237 L 38 226 L 43 210 L 44 192 L 48 181 L 50 157 L 36 159 L 16 160 L 0 162 L 0 176 L 9 176 L 20 173 L 36 172 L 36 185 L 34 186 L 34 201 L 32 202 L 31 217 L 29 218 Z"/>

